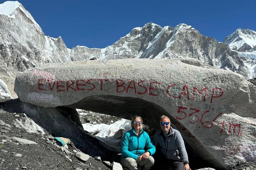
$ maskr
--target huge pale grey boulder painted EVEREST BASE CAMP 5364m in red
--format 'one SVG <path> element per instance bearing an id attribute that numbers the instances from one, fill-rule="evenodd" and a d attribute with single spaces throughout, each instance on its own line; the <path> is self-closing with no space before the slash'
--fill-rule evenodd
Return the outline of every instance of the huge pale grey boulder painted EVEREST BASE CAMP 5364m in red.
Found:
<path id="1" fill-rule="evenodd" d="M 167 115 L 189 149 L 219 168 L 256 162 L 256 86 L 197 59 L 88 60 L 18 73 L 19 99 L 130 119 L 158 130 Z"/>

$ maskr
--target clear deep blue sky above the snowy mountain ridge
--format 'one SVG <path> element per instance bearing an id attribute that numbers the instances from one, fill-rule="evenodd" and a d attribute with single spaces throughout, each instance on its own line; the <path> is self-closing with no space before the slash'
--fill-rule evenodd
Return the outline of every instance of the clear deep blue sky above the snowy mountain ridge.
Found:
<path id="1" fill-rule="evenodd" d="M 0 3 L 5 2 L 0 0 Z M 236 29 L 256 31 L 256 0 L 18 0 L 46 36 L 77 45 L 104 48 L 135 27 L 155 23 L 191 25 L 222 42 Z"/>

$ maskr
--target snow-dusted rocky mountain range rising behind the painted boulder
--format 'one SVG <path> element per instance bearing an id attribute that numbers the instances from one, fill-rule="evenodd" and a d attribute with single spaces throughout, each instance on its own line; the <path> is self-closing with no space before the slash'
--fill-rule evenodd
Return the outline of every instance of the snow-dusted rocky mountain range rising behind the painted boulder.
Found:
<path id="1" fill-rule="evenodd" d="M 255 31 L 238 29 L 222 43 L 212 37 L 202 36 L 199 31 L 184 23 L 174 28 L 147 23 L 142 28 L 132 29 L 126 36 L 104 49 L 85 46 L 68 49 L 61 37 L 44 35 L 21 3 L 7 1 L 0 4 L 0 79 L 7 84 L 13 97 L 16 97 L 13 92 L 16 72 L 42 63 L 95 58 L 177 57 L 197 58 L 250 79 L 256 77 L 256 61 L 252 55 L 256 46 L 255 35 Z"/>

